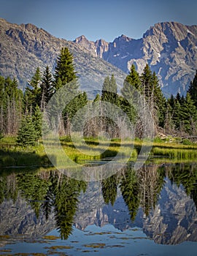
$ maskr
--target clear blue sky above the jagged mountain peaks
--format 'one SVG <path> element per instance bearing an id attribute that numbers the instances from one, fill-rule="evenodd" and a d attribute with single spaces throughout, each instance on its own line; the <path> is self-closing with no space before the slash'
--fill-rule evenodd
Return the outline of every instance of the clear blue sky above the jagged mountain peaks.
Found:
<path id="1" fill-rule="evenodd" d="M 196 0 L 0 0 L 0 17 L 33 23 L 55 37 L 112 42 L 125 34 L 140 38 L 162 21 L 197 24 Z"/>

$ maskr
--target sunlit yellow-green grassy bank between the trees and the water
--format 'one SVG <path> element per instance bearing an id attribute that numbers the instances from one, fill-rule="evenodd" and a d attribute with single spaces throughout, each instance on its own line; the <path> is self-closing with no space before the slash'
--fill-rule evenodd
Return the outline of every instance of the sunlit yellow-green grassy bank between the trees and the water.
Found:
<path id="1" fill-rule="evenodd" d="M 73 143 L 69 138 L 63 137 L 60 139 L 63 150 L 66 155 L 75 162 L 83 160 L 104 159 L 107 157 L 115 157 L 120 152 L 120 140 L 112 140 L 110 142 L 105 140 L 96 140 L 95 138 L 88 138 L 85 144 Z M 151 146 L 150 142 L 142 142 L 142 140 L 134 140 L 133 142 L 124 141 L 121 144 L 121 156 L 124 157 L 129 152 L 130 159 L 136 160 L 142 148 Z M 131 150 L 131 148 L 133 150 Z M 52 152 L 53 154 L 53 152 Z M 195 161 L 197 159 L 197 144 L 190 143 L 185 145 L 180 142 L 167 142 L 156 139 L 152 145 L 150 158 L 159 160 L 167 157 L 169 162 L 172 160 L 184 161 L 186 159 Z M 42 141 L 34 147 L 21 147 L 15 143 L 15 137 L 4 137 L 0 140 L 0 166 L 51 166 Z"/>

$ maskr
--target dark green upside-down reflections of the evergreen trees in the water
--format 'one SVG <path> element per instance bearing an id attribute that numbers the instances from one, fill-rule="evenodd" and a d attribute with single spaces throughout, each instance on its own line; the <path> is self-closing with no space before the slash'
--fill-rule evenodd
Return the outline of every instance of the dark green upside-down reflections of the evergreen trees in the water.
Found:
<path id="1" fill-rule="evenodd" d="M 61 238 L 69 237 L 80 194 L 88 186 L 85 181 L 68 178 L 57 170 L 23 170 L 9 174 L 6 171 L 0 175 L 0 203 L 9 199 L 15 202 L 20 195 L 34 209 L 36 218 L 41 212 L 46 219 L 54 214 Z M 118 191 L 121 192 L 134 222 L 139 208 L 146 217 L 154 210 L 166 177 L 178 187 L 183 186 L 197 206 L 197 167 L 192 164 L 144 166 L 137 171 L 128 166 L 99 184 L 106 204 L 113 206 Z"/>

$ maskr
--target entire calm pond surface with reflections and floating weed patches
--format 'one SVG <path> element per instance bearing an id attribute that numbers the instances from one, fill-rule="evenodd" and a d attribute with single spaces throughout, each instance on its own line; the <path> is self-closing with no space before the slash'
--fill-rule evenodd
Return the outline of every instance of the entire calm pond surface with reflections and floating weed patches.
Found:
<path id="1" fill-rule="evenodd" d="M 0 255 L 196 255 L 197 164 L 87 183 L 0 170 Z"/>

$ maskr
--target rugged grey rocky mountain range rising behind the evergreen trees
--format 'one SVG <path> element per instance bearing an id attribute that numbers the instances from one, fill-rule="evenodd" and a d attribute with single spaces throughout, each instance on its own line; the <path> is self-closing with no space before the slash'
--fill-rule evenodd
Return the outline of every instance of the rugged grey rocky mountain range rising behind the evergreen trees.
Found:
<path id="1" fill-rule="evenodd" d="M 21 88 L 36 67 L 43 71 L 48 65 L 53 72 L 62 47 L 73 53 L 82 90 L 97 91 L 104 78 L 114 74 L 120 91 L 131 64 L 139 73 L 149 64 L 166 96 L 185 94 L 197 67 L 197 26 L 163 22 L 150 27 L 141 39 L 121 35 L 113 42 L 92 42 L 81 36 L 72 42 L 32 24 L 0 18 L 0 75 L 18 78 Z"/>

